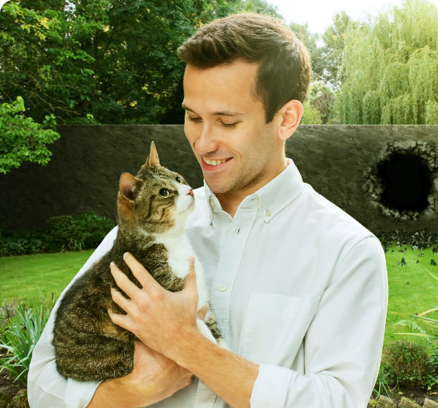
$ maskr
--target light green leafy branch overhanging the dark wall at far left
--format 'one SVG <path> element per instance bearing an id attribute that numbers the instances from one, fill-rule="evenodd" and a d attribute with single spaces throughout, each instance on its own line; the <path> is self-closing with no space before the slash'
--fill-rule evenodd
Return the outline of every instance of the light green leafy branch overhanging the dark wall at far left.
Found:
<path id="1" fill-rule="evenodd" d="M 21 97 L 0 105 L 0 173 L 8 173 L 23 162 L 44 166 L 52 154 L 46 145 L 60 137 L 54 130 L 42 129 L 32 118 L 26 118 L 24 112 Z M 45 116 L 43 125 L 55 125 L 53 114 Z"/>

